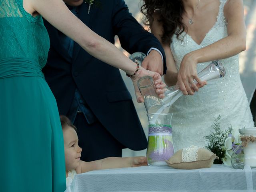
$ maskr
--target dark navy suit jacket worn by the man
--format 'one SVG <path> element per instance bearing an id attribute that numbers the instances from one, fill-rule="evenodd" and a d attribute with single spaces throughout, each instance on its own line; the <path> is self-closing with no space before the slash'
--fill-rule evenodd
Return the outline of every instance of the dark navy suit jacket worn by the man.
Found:
<path id="1" fill-rule="evenodd" d="M 78 18 L 109 42 L 114 44 L 114 37 L 118 35 L 122 48 L 130 54 L 147 53 L 155 47 L 165 60 L 160 42 L 138 24 L 123 0 L 96 0 L 90 14 L 87 12 L 88 4 L 83 3 Z M 46 21 L 44 24 L 50 36 L 50 51 L 43 72 L 60 114 L 68 113 L 78 88 L 98 120 L 124 147 L 132 150 L 146 148 L 147 139 L 119 69 L 94 58 L 77 43 L 70 58 L 60 46 L 57 29 Z"/>

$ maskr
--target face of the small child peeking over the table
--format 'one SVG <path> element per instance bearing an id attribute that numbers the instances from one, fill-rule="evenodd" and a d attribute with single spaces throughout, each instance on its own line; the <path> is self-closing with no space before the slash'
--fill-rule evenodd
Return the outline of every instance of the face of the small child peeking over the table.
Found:
<path id="1" fill-rule="evenodd" d="M 78 136 L 74 128 L 67 126 L 63 130 L 66 170 L 76 169 L 82 148 L 78 146 Z"/>

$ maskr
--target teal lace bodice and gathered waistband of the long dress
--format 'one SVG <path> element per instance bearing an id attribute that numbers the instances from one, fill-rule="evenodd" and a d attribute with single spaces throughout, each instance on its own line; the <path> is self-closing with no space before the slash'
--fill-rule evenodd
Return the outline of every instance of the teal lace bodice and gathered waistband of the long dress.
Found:
<path id="1" fill-rule="evenodd" d="M 33 17 L 22 4 L 22 0 L 1 0 L 0 63 L 14 59 L 11 62 L 14 66 L 10 63 L 8 71 L 0 72 L 0 78 L 24 74 L 33 76 L 33 73 L 43 76 L 41 69 L 46 64 L 50 48 L 49 36 L 42 17 Z M 24 60 L 25 67 L 15 65 L 16 59 Z"/>

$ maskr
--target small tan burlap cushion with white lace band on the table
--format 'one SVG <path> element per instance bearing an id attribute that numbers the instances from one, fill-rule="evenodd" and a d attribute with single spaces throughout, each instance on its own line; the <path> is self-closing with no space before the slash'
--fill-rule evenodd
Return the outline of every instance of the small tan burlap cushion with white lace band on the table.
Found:
<path id="1" fill-rule="evenodd" d="M 213 152 L 196 146 L 178 150 L 166 160 L 166 163 L 175 169 L 210 168 L 214 159 L 219 159 Z"/>

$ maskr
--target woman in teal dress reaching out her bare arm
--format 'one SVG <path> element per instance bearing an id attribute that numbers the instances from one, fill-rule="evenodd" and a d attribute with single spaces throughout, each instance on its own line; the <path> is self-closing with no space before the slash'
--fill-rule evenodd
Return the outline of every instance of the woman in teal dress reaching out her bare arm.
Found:
<path id="1" fill-rule="evenodd" d="M 159 74 L 137 70 L 114 45 L 80 22 L 62 0 L 0 0 L 1 192 L 66 189 L 60 118 L 41 71 L 49 49 L 41 15 L 96 58 L 135 74 L 134 84 L 150 75 L 160 85 L 160 97 L 165 86 Z"/>

